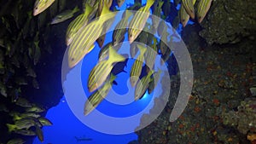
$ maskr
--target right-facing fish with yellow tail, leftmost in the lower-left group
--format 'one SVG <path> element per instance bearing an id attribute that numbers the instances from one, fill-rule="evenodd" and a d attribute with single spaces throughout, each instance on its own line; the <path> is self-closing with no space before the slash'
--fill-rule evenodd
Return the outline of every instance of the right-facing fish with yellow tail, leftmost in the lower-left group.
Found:
<path id="1" fill-rule="evenodd" d="M 6 124 L 9 132 L 21 129 L 29 129 L 32 126 L 35 126 L 35 122 L 32 118 L 22 118 L 18 121 L 15 121 L 15 124 Z"/>

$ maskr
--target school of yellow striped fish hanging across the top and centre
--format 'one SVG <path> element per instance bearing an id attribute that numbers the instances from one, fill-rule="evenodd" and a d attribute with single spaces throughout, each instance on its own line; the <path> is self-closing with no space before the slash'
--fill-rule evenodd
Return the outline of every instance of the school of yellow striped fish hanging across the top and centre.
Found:
<path id="1" fill-rule="evenodd" d="M 148 93 L 151 93 L 160 79 L 161 70 L 158 69 L 157 72 L 154 72 L 154 68 L 156 68 L 154 67 L 156 55 L 161 55 L 161 58 L 166 62 L 171 54 L 171 49 L 166 46 L 166 43 L 156 39 L 154 35 L 143 32 L 143 29 L 148 27 L 150 9 L 153 7 L 153 14 L 160 17 L 163 8 L 167 6 L 168 3 L 164 4 L 162 0 L 148 0 L 144 6 L 141 3 L 135 3 L 129 7 L 129 10 L 136 10 L 136 12 L 126 10 L 123 13 L 122 19 L 115 26 L 112 42 L 104 45 L 106 32 L 112 26 L 116 16 L 110 8 L 114 4 L 121 7 L 124 2 L 125 0 L 84 0 L 84 9 L 81 14 L 76 14 L 80 11 L 76 7 L 56 15 L 51 21 L 52 25 L 58 24 L 73 18 L 74 15 L 78 15 L 70 22 L 66 33 L 68 66 L 70 68 L 76 66 L 79 61 L 84 59 L 84 56 L 95 49 L 96 43 L 101 48 L 101 52 L 98 55 L 98 63 L 90 71 L 88 78 L 87 88 L 92 95 L 84 104 L 84 115 L 92 112 L 104 97 L 108 95 L 109 90 L 115 83 L 114 79 L 117 77 L 113 75 L 114 64 L 127 62 L 126 58 L 117 52 L 121 47 L 120 43 L 124 42 L 126 33 L 131 44 L 131 57 L 136 59 L 130 72 L 131 87 L 135 87 L 135 101 L 141 99 L 147 90 Z M 42 13 L 52 3 L 55 3 L 55 0 L 36 0 L 33 15 Z M 210 9 L 211 3 L 212 0 L 182 0 L 178 14 L 182 26 L 186 26 L 189 19 L 196 19 L 201 23 Z M 197 4 L 196 9 L 195 4 Z M 163 10 L 163 13 L 168 14 L 169 12 Z M 106 14 L 108 16 L 104 16 Z M 167 42 L 170 36 L 168 33 L 166 34 L 167 27 L 162 27 L 161 23 L 164 23 L 164 21 L 153 20 L 151 28 L 154 29 L 154 32 L 157 31 L 161 39 L 165 39 Z M 134 44 L 133 42 L 135 41 L 144 44 Z M 169 41 L 172 41 L 172 38 Z M 151 50 L 148 50 L 147 44 L 152 47 Z M 135 55 L 137 55 L 137 58 L 135 58 Z M 145 63 L 147 63 L 146 74 L 142 76 Z"/>

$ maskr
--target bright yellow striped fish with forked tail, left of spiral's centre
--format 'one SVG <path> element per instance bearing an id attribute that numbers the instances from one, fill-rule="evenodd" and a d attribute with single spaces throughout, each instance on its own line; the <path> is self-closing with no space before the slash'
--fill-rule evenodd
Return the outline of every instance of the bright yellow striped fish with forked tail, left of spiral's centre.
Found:
<path id="1" fill-rule="evenodd" d="M 93 69 L 90 71 L 87 87 L 90 92 L 98 89 L 108 78 L 109 73 L 113 69 L 113 63 L 124 61 L 125 57 L 119 55 L 113 47 L 109 47 L 108 60 L 100 61 Z"/>

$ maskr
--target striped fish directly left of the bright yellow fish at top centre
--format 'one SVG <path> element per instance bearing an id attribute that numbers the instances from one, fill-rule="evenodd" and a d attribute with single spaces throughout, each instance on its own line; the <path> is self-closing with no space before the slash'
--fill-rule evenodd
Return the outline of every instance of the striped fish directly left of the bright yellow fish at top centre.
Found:
<path id="1" fill-rule="evenodd" d="M 132 12 L 129 10 L 125 10 L 122 15 L 122 20 L 114 27 L 112 42 L 113 46 L 118 45 L 119 43 L 124 42 L 125 40 L 125 32 L 128 26 L 128 20 L 131 17 Z"/>

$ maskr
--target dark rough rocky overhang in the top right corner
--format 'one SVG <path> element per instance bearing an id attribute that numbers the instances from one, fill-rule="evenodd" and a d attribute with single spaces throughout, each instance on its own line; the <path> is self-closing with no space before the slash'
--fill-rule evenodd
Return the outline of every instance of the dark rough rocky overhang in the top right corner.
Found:
<path id="1" fill-rule="evenodd" d="M 256 5 L 253 0 L 214 1 L 202 21 L 201 37 L 212 43 L 238 43 L 243 37 L 255 38 Z"/>

